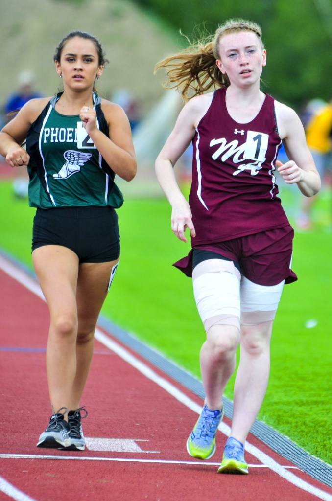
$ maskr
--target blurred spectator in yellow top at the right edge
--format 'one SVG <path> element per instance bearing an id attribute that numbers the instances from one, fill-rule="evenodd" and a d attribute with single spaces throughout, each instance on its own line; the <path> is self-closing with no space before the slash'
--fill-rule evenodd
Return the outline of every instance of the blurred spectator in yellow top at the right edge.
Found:
<path id="1" fill-rule="evenodd" d="M 332 151 L 332 101 L 325 103 L 323 107 L 318 107 L 312 114 L 306 124 L 305 135 L 323 185 Z M 319 194 L 311 198 L 301 196 L 300 212 L 296 219 L 299 229 L 310 229 L 312 205 L 318 196 Z"/>

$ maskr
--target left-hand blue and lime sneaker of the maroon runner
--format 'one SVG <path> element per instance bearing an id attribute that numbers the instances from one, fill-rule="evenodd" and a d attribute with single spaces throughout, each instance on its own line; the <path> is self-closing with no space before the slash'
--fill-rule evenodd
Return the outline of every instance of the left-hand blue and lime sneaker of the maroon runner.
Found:
<path id="1" fill-rule="evenodd" d="M 216 433 L 224 415 L 222 410 L 210 410 L 204 405 L 200 417 L 187 440 L 188 453 L 198 459 L 210 459 L 216 451 Z"/>

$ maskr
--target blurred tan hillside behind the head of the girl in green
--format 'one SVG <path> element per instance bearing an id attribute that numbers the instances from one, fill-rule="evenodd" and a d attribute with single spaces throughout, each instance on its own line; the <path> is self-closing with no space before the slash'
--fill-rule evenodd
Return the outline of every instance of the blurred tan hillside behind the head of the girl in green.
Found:
<path id="1" fill-rule="evenodd" d="M 161 21 L 152 21 L 126 0 L 2 0 L 0 3 L 0 100 L 17 86 L 20 72 L 32 70 L 35 87 L 53 95 L 61 85 L 54 70 L 55 48 L 70 31 L 95 35 L 109 60 L 98 90 L 108 99 L 119 89 L 130 91 L 146 111 L 161 95 L 153 66 L 177 44 Z M 6 48 L 6 50 L 5 50 Z"/>

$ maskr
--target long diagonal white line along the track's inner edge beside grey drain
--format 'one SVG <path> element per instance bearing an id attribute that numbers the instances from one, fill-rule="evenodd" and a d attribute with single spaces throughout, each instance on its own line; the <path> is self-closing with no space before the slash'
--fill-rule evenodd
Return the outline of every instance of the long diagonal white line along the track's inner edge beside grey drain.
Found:
<path id="1" fill-rule="evenodd" d="M 5 260 L 5 258 L 0 256 L 0 268 L 2 268 L 5 273 L 7 273 L 11 277 L 13 277 L 15 280 L 20 282 L 22 285 L 27 287 L 30 291 L 32 291 L 38 297 L 42 298 L 45 301 L 44 295 L 43 295 L 42 291 L 40 290 L 38 284 L 31 277 L 29 277 L 22 269 L 20 269 L 18 266 L 14 265 L 10 261 Z M 185 395 L 182 391 L 178 390 L 178 388 L 176 388 L 169 381 L 160 377 L 156 372 L 151 370 L 146 364 L 144 364 L 143 362 L 138 360 L 136 357 L 134 357 L 128 350 L 126 350 L 125 348 L 120 346 L 118 343 L 115 343 L 115 341 L 113 341 L 110 337 L 108 337 L 106 334 L 104 334 L 99 328 L 96 329 L 95 337 L 104 346 L 107 346 L 110 350 L 112 350 L 114 353 L 116 353 L 119 357 L 121 357 L 123 360 L 128 362 L 130 365 L 135 367 L 139 372 L 141 372 L 143 375 L 145 375 L 148 379 L 154 381 L 161 388 L 163 388 L 165 391 L 167 391 L 172 396 L 174 396 L 177 400 L 182 402 L 184 405 L 189 407 L 191 410 L 193 410 L 197 414 L 201 413 L 202 407 L 200 405 L 198 405 L 196 402 L 194 402 L 194 400 L 192 400 L 191 398 L 187 397 L 187 395 Z M 224 433 L 227 436 L 230 433 L 230 427 L 227 426 L 225 423 L 221 423 L 219 425 L 219 429 L 222 433 Z M 319 489 L 318 487 L 314 487 L 313 485 L 306 482 L 305 480 L 298 478 L 296 475 L 294 475 L 290 471 L 284 469 L 279 463 L 277 463 L 277 461 L 272 459 L 272 457 L 268 456 L 267 454 L 265 454 L 264 452 L 262 452 L 257 447 L 250 444 L 249 442 L 246 442 L 245 449 L 250 454 L 252 454 L 257 459 L 259 459 L 263 464 L 265 464 L 266 466 L 271 468 L 278 475 L 280 475 L 285 480 L 288 480 L 293 485 L 296 485 L 297 487 L 301 488 L 302 490 L 310 492 L 311 494 L 315 495 L 316 497 L 318 497 L 320 499 L 323 499 L 324 501 L 332 501 L 332 496 L 330 494 L 328 494 L 326 491 Z"/>

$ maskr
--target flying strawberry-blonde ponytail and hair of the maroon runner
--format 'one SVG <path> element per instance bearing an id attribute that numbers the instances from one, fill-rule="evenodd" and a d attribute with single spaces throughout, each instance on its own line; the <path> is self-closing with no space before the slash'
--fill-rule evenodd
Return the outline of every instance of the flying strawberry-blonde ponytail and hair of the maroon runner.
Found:
<path id="1" fill-rule="evenodd" d="M 216 60 L 220 58 L 219 42 L 225 35 L 243 31 L 255 33 L 264 49 L 259 25 L 243 19 L 229 19 L 219 26 L 214 35 L 193 43 L 186 37 L 189 47 L 159 61 L 155 65 L 154 73 L 165 68 L 168 81 L 163 84 L 163 87 L 165 89 L 177 88 L 185 102 L 199 94 L 204 94 L 211 87 L 214 89 L 228 87 L 230 81 L 227 75 L 223 75 L 216 65 Z"/>

